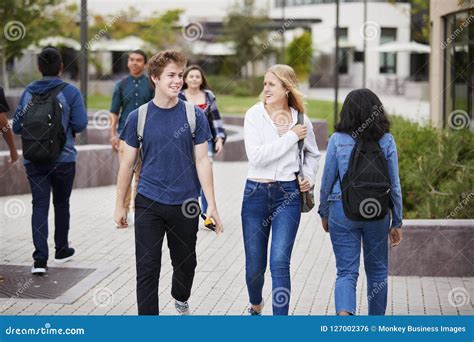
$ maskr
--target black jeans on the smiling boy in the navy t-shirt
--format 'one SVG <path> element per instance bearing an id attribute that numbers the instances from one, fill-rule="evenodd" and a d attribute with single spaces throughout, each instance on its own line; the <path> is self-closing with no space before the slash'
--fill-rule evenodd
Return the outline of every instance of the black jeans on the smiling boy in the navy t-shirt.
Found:
<path id="1" fill-rule="evenodd" d="M 166 205 L 137 194 L 135 199 L 135 256 L 139 315 L 158 315 L 161 247 L 166 234 L 173 266 L 171 295 L 187 301 L 196 269 L 199 215 L 184 215 L 181 205 Z M 195 216 L 195 217 L 194 217 Z"/>

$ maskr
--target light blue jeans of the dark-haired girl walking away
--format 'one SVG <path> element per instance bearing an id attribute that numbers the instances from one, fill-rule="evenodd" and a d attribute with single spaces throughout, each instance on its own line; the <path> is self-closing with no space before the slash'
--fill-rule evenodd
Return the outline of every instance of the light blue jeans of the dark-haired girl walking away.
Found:
<path id="1" fill-rule="evenodd" d="M 355 314 L 360 249 L 364 249 L 369 315 L 385 315 L 388 288 L 388 232 L 390 216 L 378 221 L 352 221 L 342 201 L 329 202 L 329 234 L 336 256 L 336 313 Z"/>

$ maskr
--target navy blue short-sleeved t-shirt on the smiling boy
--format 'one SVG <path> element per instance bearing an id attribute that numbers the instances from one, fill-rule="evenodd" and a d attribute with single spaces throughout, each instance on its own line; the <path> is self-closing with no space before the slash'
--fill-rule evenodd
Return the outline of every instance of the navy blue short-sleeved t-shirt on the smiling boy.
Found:
<path id="1" fill-rule="evenodd" d="M 196 108 L 194 144 L 211 139 L 206 115 Z M 138 148 L 138 109 L 131 112 L 120 135 L 128 145 Z M 182 100 L 173 108 L 159 108 L 148 102 L 143 131 L 143 160 L 137 192 L 156 202 L 179 205 L 197 198 L 201 185 L 193 159 L 193 140 Z"/>

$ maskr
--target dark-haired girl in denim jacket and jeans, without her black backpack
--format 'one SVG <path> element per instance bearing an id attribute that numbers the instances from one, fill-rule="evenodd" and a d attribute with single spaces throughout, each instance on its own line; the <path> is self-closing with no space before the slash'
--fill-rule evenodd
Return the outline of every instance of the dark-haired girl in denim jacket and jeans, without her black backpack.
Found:
<path id="1" fill-rule="evenodd" d="M 319 206 L 322 225 L 331 236 L 336 257 L 336 313 L 355 314 L 362 245 L 369 315 L 384 315 L 388 288 L 388 237 L 392 247 L 397 246 L 402 239 L 402 192 L 397 147 L 389 133 L 390 122 L 382 103 L 372 91 L 351 91 L 344 101 L 340 118 L 335 133 L 329 139 Z M 344 214 L 340 180 L 347 172 L 357 139 L 378 141 L 387 159 L 393 208 L 381 220 L 353 221 Z"/>

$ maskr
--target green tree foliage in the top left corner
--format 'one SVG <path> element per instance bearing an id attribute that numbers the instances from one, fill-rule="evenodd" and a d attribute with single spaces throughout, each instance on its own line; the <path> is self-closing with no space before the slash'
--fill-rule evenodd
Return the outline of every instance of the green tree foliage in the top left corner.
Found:
<path id="1" fill-rule="evenodd" d="M 0 74 L 3 86 L 8 89 L 7 61 L 20 57 L 30 44 L 47 36 L 57 28 L 52 6 L 59 0 L 2 0 L 0 17 Z"/>

